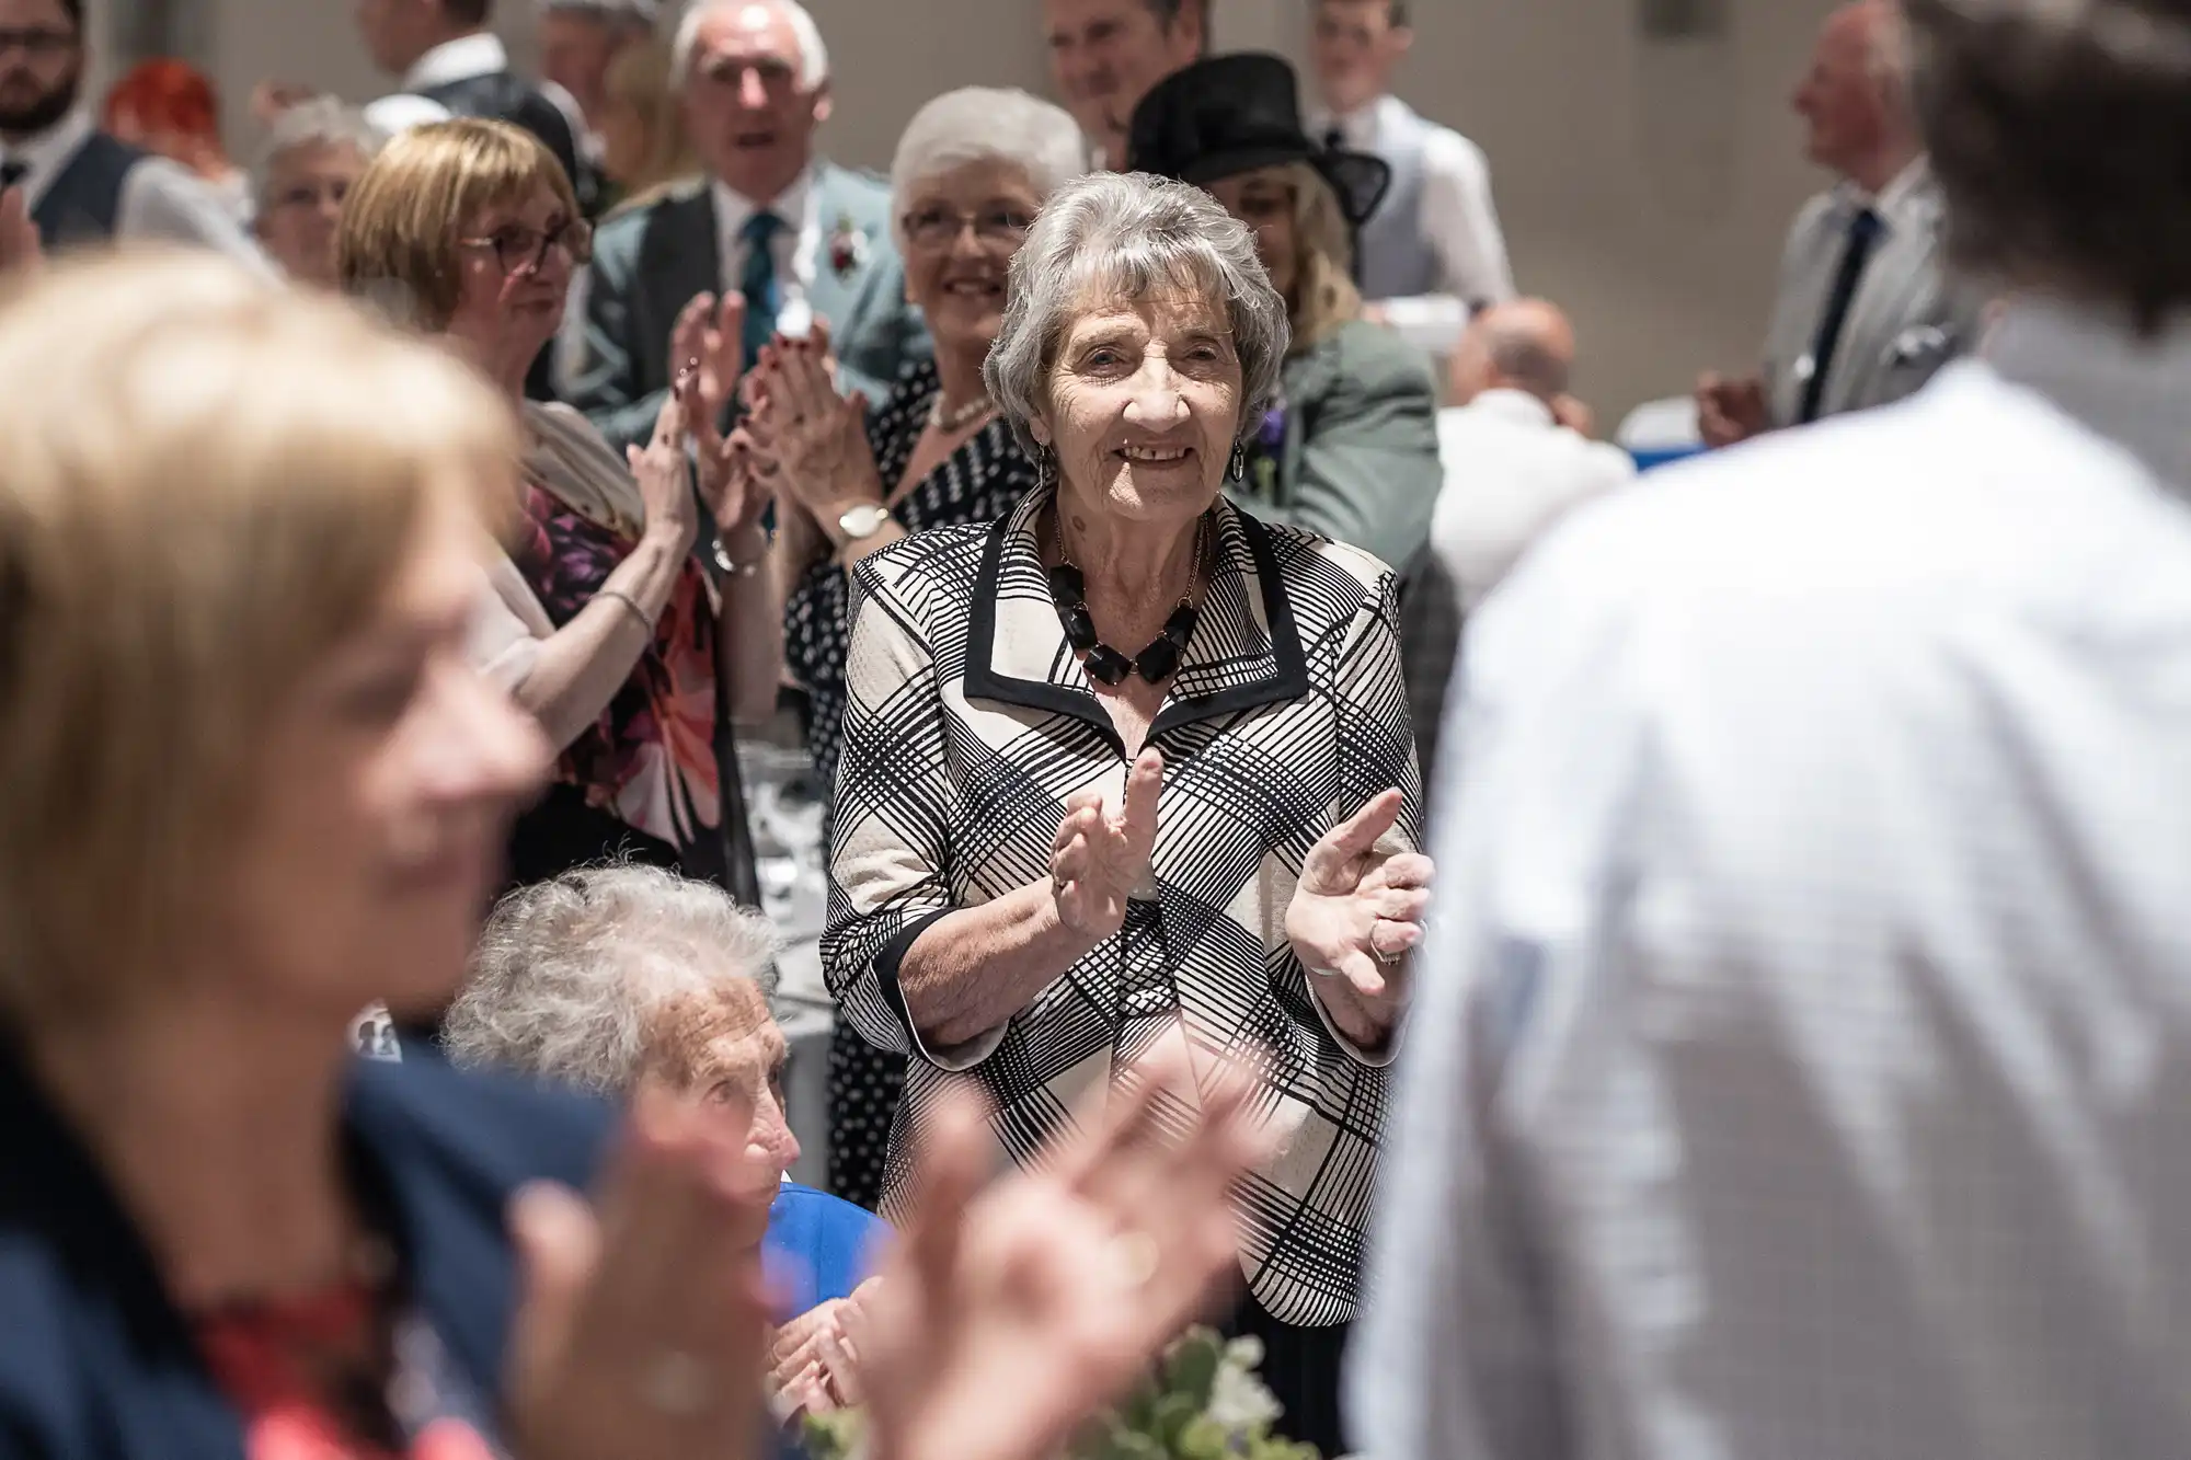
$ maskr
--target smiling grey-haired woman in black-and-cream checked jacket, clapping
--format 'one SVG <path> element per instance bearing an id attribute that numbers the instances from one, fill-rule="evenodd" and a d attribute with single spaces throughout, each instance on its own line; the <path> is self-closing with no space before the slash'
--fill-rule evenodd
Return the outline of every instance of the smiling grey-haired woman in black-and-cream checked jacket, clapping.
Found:
<path id="1" fill-rule="evenodd" d="M 1028 1162 L 1159 1046 L 1269 1048 L 1238 1324 L 1337 1449 L 1431 866 L 1391 574 L 1223 498 L 1284 355 L 1286 303 L 1205 193 L 1049 199 L 986 375 L 1052 487 L 854 574 L 824 969 L 916 1057 L 885 1212 L 955 1083 Z"/>

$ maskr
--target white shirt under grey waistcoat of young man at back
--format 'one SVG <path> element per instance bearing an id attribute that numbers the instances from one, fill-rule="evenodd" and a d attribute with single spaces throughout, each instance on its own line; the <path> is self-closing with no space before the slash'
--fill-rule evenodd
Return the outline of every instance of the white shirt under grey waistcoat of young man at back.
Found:
<path id="1" fill-rule="evenodd" d="M 1350 149 L 1376 153 L 1385 129 L 1404 112 L 1398 96 L 1378 96 L 1352 116 L 1317 116 L 1310 136 L 1323 138 L 1339 127 Z M 1422 147 L 1422 237 L 1444 265 L 1444 287 L 1418 298 L 1387 298 L 1378 309 L 1422 353 L 1450 355 L 1468 329 L 1470 300 L 1496 305 L 1514 298 L 1514 265 L 1499 208 L 1492 206 L 1492 167 L 1483 149 L 1453 127 L 1422 125 L 1429 127 Z"/>

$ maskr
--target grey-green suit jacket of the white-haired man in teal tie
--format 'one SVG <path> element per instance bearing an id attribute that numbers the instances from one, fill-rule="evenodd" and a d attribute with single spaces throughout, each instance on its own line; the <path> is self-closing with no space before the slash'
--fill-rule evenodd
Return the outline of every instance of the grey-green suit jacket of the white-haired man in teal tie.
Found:
<path id="1" fill-rule="evenodd" d="M 839 388 L 865 390 L 881 406 L 898 370 L 929 351 L 920 311 L 905 303 L 905 265 L 890 241 L 890 189 L 872 178 L 815 164 L 822 243 L 815 259 L 813 311 L 830 322 Z M 830 239 L 859 235 L 859 259 L 839 272 Z M 670 327 L 695 294 L 723 287 L 723 241 L 714 195 L 688 189 L 609 219 L 594 239 L 585 298 L 585 360 L 570 381 L 570 403 L 583 410 L 609 445 L 644 443 L 655 430 L 670 384 Z"/>

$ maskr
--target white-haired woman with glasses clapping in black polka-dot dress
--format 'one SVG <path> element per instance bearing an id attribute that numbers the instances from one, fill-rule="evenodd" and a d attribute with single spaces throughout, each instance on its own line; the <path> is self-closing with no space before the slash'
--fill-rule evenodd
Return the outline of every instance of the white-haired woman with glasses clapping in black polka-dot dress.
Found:
<path id="1" fill-rule="evenodd" d="M 982 366 L 1003 327 L 1006 276 L 1043 199 L 1085 171 L 1074 118 L 1025 92 L 968 88 L 925 105 L 890 169 L 905 294 L 936 357 L 905 370 L 883 410 L 839 401 L 826 340 L 778 342 L 754 373 L 762 480 L 782 533 L 784 658 L 808 695 L 806 745 L 835 785 L 844 739 L 848 570 L 907 533 L 1003 517 L 1036 484 Z M 830 1188 L 883 1190 L 905 1061 L 839 1026 L 830 1046 Z"/>

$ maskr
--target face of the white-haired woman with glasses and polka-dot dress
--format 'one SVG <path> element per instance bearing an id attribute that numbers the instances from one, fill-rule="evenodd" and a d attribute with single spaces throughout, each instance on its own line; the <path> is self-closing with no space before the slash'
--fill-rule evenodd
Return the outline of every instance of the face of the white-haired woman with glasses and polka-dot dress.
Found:
<path id="1" fill-rule="evenodd" d="M 1043 199 L 1014 162 L 982 160 L 911 189 L 905 217 L 905 298 L 920 305 L 936 346 L 988 355 L 1003 329 L 1003 281 Z"/>

